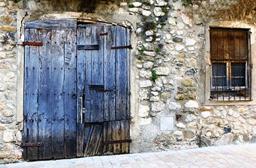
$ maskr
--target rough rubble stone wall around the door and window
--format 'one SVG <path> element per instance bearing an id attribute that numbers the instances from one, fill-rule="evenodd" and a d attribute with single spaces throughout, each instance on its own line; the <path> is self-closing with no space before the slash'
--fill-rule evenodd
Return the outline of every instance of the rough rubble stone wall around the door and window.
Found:
<path id="1" fill-rule="evenodd" d="M 0 164 L 22 160 L 22 121 L 17 120 L 17 111 L 22 111 L 22 73 L 18 73 L 22 58 L 17 57 L 22 52 L 22 26 L 42 15 L 56 17 L 63 11 L 111 22 L 136 20 L 132 24 L 126 22 L 134 28 L 132 153 L 256 141 L 254 105 L 204 104 L 205 22 L 232 20 L 238 25 L 241 22 L 253 26 L 254 1 L 85 2 L 0 0 Z"/>

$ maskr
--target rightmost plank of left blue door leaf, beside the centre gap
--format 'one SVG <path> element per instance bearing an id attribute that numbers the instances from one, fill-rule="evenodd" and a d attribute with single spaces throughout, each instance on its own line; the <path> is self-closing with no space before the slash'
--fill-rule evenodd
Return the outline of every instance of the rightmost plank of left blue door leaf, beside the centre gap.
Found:
<path id="1" fill-rule="evenodd" d="M 65 32 L 64 57 L 64 148 L 65 158 L 76 157 L 76 31 Z"/>

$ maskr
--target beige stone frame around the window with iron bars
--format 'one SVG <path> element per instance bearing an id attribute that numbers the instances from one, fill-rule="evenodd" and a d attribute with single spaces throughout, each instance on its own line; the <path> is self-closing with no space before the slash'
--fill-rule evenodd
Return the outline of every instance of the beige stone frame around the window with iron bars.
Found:
<path id="1" fill-rule="evenodd" d="M 246 24 L 243 22 L 233 22 L 233 21 L 207 21 L 205 22 L 205 54 L 204 60 L 202 61 L 202 65 L 204 65 L 204 86 L 205 90 L 200 91 L 204 97 L 202 98 L 203 105 L 256 105 L 256 86 L 253 86 L 252 83 L 256 83 L 256 74 L 253 72 L 253 66 L 250 69 L 247 68 L 246 73 L 250 75 L 250 79 L 247 86 L 249 86 L 252 90 L 252 99 L 251 100 L 211 100 L 211 42 L 210 42 L 210 27 L 216 28 L 230 28 L 230 29 L 248 29 L 250 31 L 250 36 L 248 36 L 248 55 L 250 56 L 250 61 L 253 64 L 256 63 L 256 35 L 255 35 L 255 26 L 250 24 Z M 203 80 L 201 80 L 203 82 Z M 247 87 L 246 86 L 246 87 Z"/>

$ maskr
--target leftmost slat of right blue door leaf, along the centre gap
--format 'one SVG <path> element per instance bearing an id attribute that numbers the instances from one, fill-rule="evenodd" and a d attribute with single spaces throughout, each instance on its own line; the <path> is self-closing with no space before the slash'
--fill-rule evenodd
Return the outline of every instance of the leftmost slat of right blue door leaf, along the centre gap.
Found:
<path id="1" fill-rule="evenodd" d="M 77 29 L 77 44 L 83 45 L 86 40 L 85 28 L 79 27 Z M 86 98 L 84 98 L 83 91 L 85 86 L 85 51 L 77 51 L 77 157 L 83 157 L 83 146 L 84 146 L 84 124 L 82 123 L 83 116 L 83 104 L 85 108 L 88 108 L 86 104 Z M 87 91 L 87 88 L 85 89 Z M 85 95 L 87 96 L 87 94 Z M 84 98 L 84 99 L 83 99 Z M 88 109 L 86 109 L 84 114 L 84 121 L 86 121 L 86 114 L 88 114 Z"/>

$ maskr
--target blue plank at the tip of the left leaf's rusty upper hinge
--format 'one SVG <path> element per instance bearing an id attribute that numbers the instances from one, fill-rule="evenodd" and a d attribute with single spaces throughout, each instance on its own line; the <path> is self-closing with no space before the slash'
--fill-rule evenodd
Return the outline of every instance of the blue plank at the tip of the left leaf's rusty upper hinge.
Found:
<path id="1" fill-rule="evenodd" d="M 38 86 L 38 142 L 44 142 L 44 146 L 38 149 L 38 159 L 50 159 L 52 157 L 51 144 L 51 31 L 40 29 L 38 40 L 43 43 L 38 47 L 39 86 Z"/>

